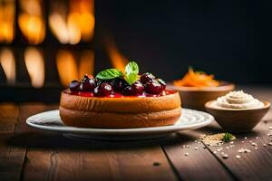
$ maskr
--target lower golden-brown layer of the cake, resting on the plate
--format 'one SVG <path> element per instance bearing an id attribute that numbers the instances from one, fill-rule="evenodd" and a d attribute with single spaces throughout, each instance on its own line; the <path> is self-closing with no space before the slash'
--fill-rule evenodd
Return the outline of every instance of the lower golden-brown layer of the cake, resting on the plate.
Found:
<path id="1" fill-rule="evenodd" d="M 82 110 L 66 110 L 60 107 L 63 123 L 73 127 L 130 129 L 160 127 L 174 124 L 181 114 L 181 108 L 149 113 L 112 113 Z"/>

